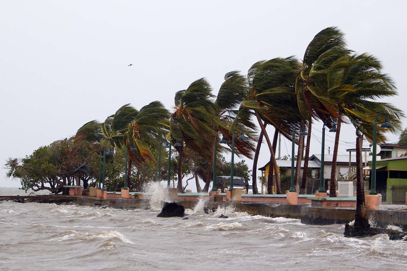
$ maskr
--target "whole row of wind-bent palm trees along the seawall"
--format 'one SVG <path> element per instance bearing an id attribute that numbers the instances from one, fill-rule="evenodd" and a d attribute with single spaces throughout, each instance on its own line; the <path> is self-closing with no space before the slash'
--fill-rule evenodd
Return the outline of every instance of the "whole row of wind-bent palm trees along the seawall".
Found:
<path id="1" fill-rule="evenodd" d="M 312 122 L 328 118 L 335 120 L 337 133 L 333 151 L 330 195 L 335 195 L 335 169 L 339 134 L 342 123 L 351 123 L 368 140 L 373 137 L 376 114 L 387 114 L 394 132 L 400 129 L 403 112 L 392 104 L 381 102 L 397 95 L 392 78 L 382 72 L 381 62 L 371 54 L 355 54 L 346 47 L 344 34 L 336 27 L 328 27 L 315 35 L 307 46 L 303 60 L 294 56 L 258 61 L 249 68 L 247 76 L 238 71 L 225 75 L 217 96 L 205 78 L 192 82 L 188 88 L 175 93 L 174 109 L 169 112 L 155 101 L 140 111 L 126 104 L 103 123 L 90 121 L 77 133 L 90 141 L 105 141 L 114 148 L 127 148 L 130 163 L 139 164 L 153 159 L 151 148 L 157 149 L 165 141 L 175 145 L 179 153 L 178 190 L 182 191 L 181 163 L 184 147 L 212 164 L 214 139 L 219 132 L 228 139 L 228 147 L 218 145 L 217 152 L 228 152 L 232 134 L 243 132 L 248 139 L 236 141 L 239 156 L 254 159 L 253 191 L 257 193 L 256 169 L 263 138 L 270 152 L 270 165 L 278 172 L 276 145 L 278 134 L 291 140 L 293 129 L 302 123 L 308 129 L 306 143 L 295 129 L 299 145 L 297 165 L 301 163 L 305 145 L 304 175 L 301 191 L 304 193 L 308 166 Z M 256 124 L 257 123 L 257 124 Z M 333 121 L 328 121 L 328 128 Z M 269 137 L 266 126 L 275 128 Z M 260 133 L 258 134 L 258 128 Z M 378 128 L 377 139 L 385 141 L 384 130 Z M 357 148 L 361 148 L 358 136 Z M 219 142 L 219 141 L 218 141 Z M 188 158 L 188 157 L 186 157 Z M 273 170 L 270 170 L 271 174 Z M 129 176 L 129 174 L 128 174 Z M 210 178 L 205 181 L 208 191 Z M 282 193 L 278 174 L 275 174 L 277 193 Z M 299 184 L 297 189 L 299 189 Z"/>

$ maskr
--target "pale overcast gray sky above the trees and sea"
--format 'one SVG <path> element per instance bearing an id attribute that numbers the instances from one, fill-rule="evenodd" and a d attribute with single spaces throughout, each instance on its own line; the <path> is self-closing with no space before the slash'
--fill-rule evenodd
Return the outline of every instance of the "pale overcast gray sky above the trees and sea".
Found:
<path id="1" fill-rule="evenodd" d="M 217 94 L 227 72 L 246 74 L 256 61 L 278 56 L 302 59 L 309 41 L 328 26 L 341 28 L 352 50 L 383 61 L 400 93 L 386 102 L 404 109 L 405 11 L 405 1 L 372 0 L 3 0 L 0 160 L 3 165 L 69 137 L 126 103 L 141 108 L 160 100 L 172 110 L 175 92 L 201 77 Z M 321 153 L 320 130 L 321 123 L 313 125 L 311 154 Z M 346 154 L 354 128 L 343 126 L 340 139 L 349 142 L 339 145 Z M 326 140 L 332 150 L 333 139 Z M 397 140 L 389 134 L 389 142 Z M 282 141 L 282 155 L 290 147 Z M 264 144 L 258 166 L 268 160 Z M 1 167 L 0 186 L 19 186 L 5 173 Z"/>

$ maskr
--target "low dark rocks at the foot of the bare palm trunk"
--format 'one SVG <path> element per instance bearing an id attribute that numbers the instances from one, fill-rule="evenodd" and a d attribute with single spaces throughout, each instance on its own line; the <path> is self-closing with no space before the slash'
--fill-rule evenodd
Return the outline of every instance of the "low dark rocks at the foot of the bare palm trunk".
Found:
<path id="1" fill-rule="evenodd" d="M 403 238 L 407 233 L 399 232 L 396 230 L 372 228 L 372 227 L 354 228 L 353 226 L 350 226 L 348 223 L 345 224 L 345 231 L 344 231 L 345 237 L 363 238 L 363 237 L 371 237 L 376 234 L 387 234 L 389 236 L 390 240 L 406 240 Z"/>

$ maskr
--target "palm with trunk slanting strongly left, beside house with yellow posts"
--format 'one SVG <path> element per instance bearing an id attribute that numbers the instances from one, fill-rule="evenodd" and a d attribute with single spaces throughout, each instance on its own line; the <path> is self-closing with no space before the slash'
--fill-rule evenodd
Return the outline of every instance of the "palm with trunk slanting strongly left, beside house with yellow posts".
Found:
<path id="1" fill-rule="evenodd" d="M 300 120 L 294 85 L 298 61 L 292 56 L 259 61 L 248 72 L 249 93 L 242 102 L 242 112 L 252 110 L 270 150 L 270 165 L 278 173 L 276 157 L 265 123 L 271 124 L 291 140 L 291 131 Z M 240 111 L 238 117 L 240 117 Z M 276 139 L 277 137 L 275 137 Z M 271 172 L 273 172 L 271 170 Z M 275 174 L 277 192 L 281 193 L 280 178 Z"/>

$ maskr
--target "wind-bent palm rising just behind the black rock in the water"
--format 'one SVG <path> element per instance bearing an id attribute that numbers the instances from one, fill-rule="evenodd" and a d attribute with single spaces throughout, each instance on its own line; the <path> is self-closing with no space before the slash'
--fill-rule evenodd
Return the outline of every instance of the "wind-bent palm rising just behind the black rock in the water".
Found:
<path id="1" fill-rule="evenodd" d="M 178 157 L 178 191 L 182 186 L 183 145 L 199 154 L 206 161 L 211 161 L 212 151 L 208 148 L 215 137 L 214 103 L 212 89 L 204 79 L 194 81 L 187 89 L 175 93 L 174 111 L 170 115 L 169 139 L 178 141 L 175 147 Z"/>

